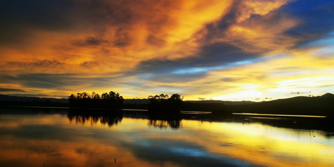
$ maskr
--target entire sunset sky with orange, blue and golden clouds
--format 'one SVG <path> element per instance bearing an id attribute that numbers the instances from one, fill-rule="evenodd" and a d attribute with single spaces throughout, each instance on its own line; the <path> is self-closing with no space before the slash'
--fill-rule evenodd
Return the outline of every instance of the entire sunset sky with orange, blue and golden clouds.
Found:
<path id="1" fill-rule="evenodd" d="M 4 0 L 0 94 L 334 93 L 332 0 Z"/>

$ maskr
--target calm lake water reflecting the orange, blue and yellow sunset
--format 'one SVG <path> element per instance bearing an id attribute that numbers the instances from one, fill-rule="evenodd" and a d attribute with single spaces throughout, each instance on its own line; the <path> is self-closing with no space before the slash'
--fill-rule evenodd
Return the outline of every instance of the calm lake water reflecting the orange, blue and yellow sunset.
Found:
<path id="1" fill-rule="evenodd" d="M 334 166 L 324 118 L 79 113 L 0 107 L 0 166 Z"/>

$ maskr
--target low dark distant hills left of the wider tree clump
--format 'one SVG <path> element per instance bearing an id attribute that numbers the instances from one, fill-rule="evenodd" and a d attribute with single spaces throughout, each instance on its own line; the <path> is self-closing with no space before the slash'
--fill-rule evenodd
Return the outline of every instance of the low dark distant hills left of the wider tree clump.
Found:
<path id="1" fill-rule="evenodd" d="M 18 96 L 8 96 L 0 95 L 0 101 L 19 101 L 19 102 L 32 102 L 32 101 L 46 101 L 68 103 L 68 99 L 56 99 L 56 98 L 37 98 L 37 97 L 18 97 Z"/>

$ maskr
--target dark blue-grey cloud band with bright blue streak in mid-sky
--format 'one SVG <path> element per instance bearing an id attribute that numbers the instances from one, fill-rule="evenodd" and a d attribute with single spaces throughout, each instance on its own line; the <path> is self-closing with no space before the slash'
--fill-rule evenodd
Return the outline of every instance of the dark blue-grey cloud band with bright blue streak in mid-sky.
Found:
<path id="1" fill-rule="evenodd" d="M 134 72 L 129 72 L 127 75 L 137 75 L 141 79 L 161 82 L 190 81 L 205 76 L 211 70 L 260 61 L 257 60 L 259 57 L 260 54 L 246 53 L 227 43 L 215 43 L 203 46 L 195 57 L 142 61 Z M 223 78 L 226 82 L 238 79 L 242 78 Z"/>

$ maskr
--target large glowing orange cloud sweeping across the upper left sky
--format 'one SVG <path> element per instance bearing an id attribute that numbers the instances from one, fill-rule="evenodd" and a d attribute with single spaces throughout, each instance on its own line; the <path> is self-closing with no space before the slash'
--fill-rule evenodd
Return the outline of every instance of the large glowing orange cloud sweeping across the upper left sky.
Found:
<path id="1" fill-rule="evenodd" d="M 94 2 L 78 3 L 85 9 Z M 231 1 L 100 3 L 84 15 L 96 17 L 97 24 L 81 20 L 78 25 L 85 28 L 78 32 L 27 28 L 31 37 L 3 48 L 1 65 L 6 71 L 115 76 L 112 73 L 131 70 L 140 61 L 191 56 L 198 47 L 192 35 L 221 17 Z M 80 21 L 84 16 L 77 17 Z"/>

